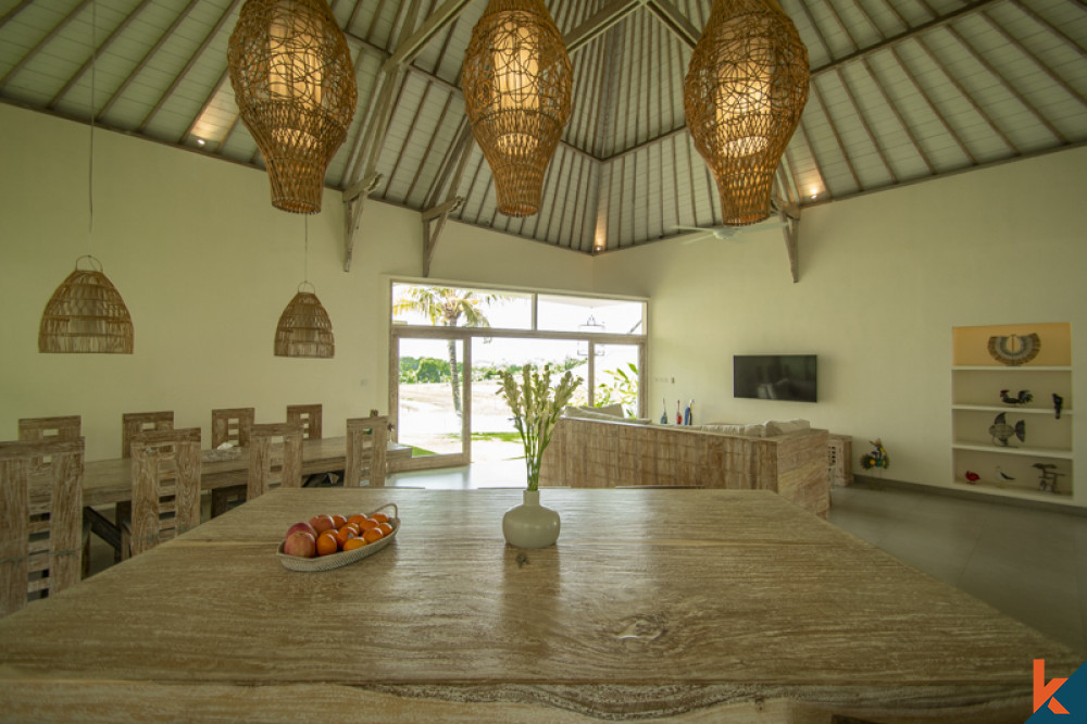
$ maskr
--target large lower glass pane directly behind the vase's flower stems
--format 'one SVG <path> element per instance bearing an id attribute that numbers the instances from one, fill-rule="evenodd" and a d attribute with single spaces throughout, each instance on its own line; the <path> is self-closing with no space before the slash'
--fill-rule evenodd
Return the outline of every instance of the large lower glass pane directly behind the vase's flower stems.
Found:
<path id="1" fill-rule="evenodd" d="M 588 362 L 577 357 L 574 340 L 548 339 L 474 339 L 472 340 L 472 462 L 524 458 L 521 437 L 513 427 L 513 413 L 505 398 L 498 394 L 501 372 L 516 375 L 525 364 L 555 365 L 551 384 L 558 383 L 566 370 L 582 379 L 571 404 L 586 404 L 588 391 L 585 375 Z"/>

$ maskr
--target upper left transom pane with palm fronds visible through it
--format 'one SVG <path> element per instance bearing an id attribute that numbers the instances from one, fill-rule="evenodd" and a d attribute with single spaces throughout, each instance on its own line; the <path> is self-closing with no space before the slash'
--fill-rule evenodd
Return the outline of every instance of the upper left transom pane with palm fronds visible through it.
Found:
<path id="1" fill-rule="evenodd" d="M 395 283 L 392 323 L 530 329 L 533 296 L 527 292 Z"/>

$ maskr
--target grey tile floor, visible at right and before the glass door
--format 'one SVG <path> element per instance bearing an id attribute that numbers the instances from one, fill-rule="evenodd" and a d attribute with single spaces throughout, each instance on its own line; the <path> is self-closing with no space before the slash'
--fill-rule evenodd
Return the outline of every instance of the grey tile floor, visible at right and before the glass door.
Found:
<path id="1" fill-rule="evenodd" d="M 521 460 L 389 476 L 390 486 L 524 486 Z M 829 522 L 1087 658 L 1087 516 L 879 486 L 835 488 Z M 92 572 L 113 562 L 92 537 Z"/>

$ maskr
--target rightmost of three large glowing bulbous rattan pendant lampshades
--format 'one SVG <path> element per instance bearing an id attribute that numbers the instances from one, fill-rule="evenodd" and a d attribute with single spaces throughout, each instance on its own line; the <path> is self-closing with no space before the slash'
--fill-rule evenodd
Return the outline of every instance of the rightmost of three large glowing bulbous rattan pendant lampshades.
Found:
<path id="1" fill-rule="evenodd" d="M 770 215 L 774 172 L 808 102 L 808 49 L 776 0 L 714 0 L 684 82 L 695 148 L 724 223 Z"/>

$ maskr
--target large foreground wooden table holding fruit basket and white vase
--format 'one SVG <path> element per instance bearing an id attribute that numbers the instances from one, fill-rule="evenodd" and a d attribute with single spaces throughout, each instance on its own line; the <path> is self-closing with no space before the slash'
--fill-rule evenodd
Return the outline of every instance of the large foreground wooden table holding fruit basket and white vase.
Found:
<path id="1" fill-rule="evenodd" d="M 0 620 L 17 721 L 1023 722 L 1082 661 L 769 491 L 277 489 Z M 388 547 L 280 565 L 296 521 L 396 503 Z M 852 720 L 849 720 L 852 721 Z"/>

